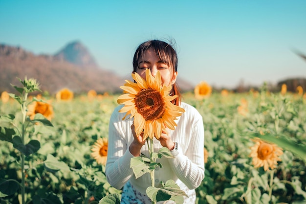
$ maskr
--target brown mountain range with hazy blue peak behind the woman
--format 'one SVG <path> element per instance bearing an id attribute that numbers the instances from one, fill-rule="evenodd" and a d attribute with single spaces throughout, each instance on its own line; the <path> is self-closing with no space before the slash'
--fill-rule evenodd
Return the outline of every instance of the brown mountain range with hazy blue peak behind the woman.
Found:
<path id="1" fill-rule="evenodd" d="M 22 47 L 0 45 L 0 92 L 16 93 L 11 84 L 21 86 L 19 80 L 35 78 L 41 90 L 54 94 L 68 88 L 75 93 L 95 90 L 97 92 L 122 92 L 119 88 L 125 80 L 118 74 L 99 68 L 88 49 L 78 41 L 68 43 L 54 55 L 35 55 Z M 177 79 L 181 91 L 193 86 Z"/>

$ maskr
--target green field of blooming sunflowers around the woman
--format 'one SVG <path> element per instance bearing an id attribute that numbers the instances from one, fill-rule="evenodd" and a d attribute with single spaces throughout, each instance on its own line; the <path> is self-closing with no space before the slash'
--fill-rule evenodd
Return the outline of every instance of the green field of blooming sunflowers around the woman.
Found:
<path id="1" fill-rule="evenodd" d="M 98 204 L 120 194 L 105 176 L 109 118 L 119 95 L 68 89 L 0 100 L 0 203 Z M 200 88 L 197 88 L 200 89 Z M 183 93 L 203 116 L 205 178 L 198 204 L 306 204 L 306 95 Z"/>

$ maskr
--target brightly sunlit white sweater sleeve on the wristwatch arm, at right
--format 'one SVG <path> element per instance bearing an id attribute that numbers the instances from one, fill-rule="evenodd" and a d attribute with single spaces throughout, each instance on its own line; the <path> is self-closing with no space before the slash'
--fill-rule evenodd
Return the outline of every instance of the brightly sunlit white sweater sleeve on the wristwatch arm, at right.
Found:
<path id="1" fill-rule="evenodd" d="M 188 116 L 182 121 L 184 125 L 181 124 L 183 130 L 177 133 L 189 142 L 178 142 L 178 149 L 172 152 L 175 159 L 169 159 L 169 162 L 177 178 L 189 189 L 194 189 L 204 179 L 204 126 L 202 116 L 193 107 L 188 107 L 186 113 Z"/>

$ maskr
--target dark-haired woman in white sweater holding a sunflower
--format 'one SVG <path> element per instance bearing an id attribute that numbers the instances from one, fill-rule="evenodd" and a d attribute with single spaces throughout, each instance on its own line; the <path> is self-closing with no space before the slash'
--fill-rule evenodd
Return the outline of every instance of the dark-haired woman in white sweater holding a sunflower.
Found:
<path id="1" fill-rule="evenodd" d="M 142 43 L 133 57 L 133 72 L 145 79 L 145 70 L 150 69 L 153 76 L 159 71 L 162 83 L 172 85 L 171 95 L 178 95 L 174 101 L 185 112 L 176 120 L 174 131 L 163 131 L 159 140 L 154 139 L 154 151 L 167 147 L 175 159 L 161 158 L 158 160 L 162 168 L 155 169 L 155 186 L 168 180 L 174 180 L 188 197 L 184 204 L 196 202 L 196 192 L 204 179 L 204 127 L 202 116 L 197 110 L 180 101 L 180 93 L 176 85 L 177 55 L 175 49 L 159 40 Z M 135 179 L 130 168 L 130 161 L 140 154 L 148 155 L 148 147 L 143 134 L 137 136 L 134 131 L 133 118 L 122 120 L 125 113 L 118 111 L 118 106 L 111 115 L 109 122 L 109 148 L 106 164 L 106 176 L 109 183 L 121 189 L 123 204 L 151 204 L 146 189 L 151 186 L 150 174 Z"/>

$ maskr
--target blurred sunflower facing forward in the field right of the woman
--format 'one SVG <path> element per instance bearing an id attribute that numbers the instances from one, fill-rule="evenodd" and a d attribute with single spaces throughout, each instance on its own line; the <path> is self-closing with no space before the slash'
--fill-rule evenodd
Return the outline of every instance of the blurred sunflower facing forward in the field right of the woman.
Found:
<path id="1" fill-rule="evenodd" d="M 263 166 L 264 171 L 267 171 L 269 167 L 271 169 L 276 168 L 277 161 L 281 159 L 279 156 L 283 154 L 283 149 L 276 144 L 270 144 L 262 141 L 259 138 L 253 139 L 255 145 L 251 147 L 252 163 L 255 168 Z"/>

